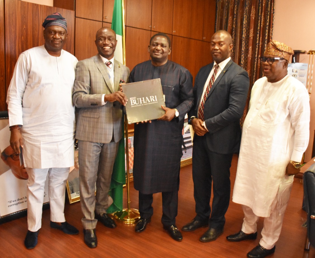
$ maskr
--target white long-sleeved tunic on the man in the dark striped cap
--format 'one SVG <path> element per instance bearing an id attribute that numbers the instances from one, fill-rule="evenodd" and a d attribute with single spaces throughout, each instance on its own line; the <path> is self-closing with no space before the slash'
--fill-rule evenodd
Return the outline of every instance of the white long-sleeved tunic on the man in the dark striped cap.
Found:
<path id="1" fill-rule="evenodd" d="M 74 164 L 72 88 L 77 58 L 44 46 L 20 54 L 8 89 L 9 124 L 20 124 L 24 165 L 66 168 Z"/>

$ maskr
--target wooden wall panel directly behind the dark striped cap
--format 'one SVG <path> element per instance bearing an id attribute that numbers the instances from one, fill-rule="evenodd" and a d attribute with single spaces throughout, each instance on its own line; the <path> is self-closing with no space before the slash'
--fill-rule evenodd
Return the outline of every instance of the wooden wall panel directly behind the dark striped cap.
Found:
<path id="1" fill-rule="evenodd" d="M 48 15 L 56 13 L 56 12 L 59 12 L 67 20 L 68 35 L 67 35 L 66 44 L 64 45 L 63 49 L 70 52 L 71 54 L 74 54 L 74 33 L 75 33 L 74 11 L 43 5 L 43 21 Z M 44 43 L 44 39 L 43 39 L 43 43 Z"/>

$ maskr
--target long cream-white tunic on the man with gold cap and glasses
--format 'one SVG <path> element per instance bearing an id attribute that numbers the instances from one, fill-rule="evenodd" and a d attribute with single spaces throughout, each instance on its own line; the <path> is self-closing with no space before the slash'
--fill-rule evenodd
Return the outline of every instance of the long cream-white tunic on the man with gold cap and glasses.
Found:
<path id="1" fill-rule="evenodd" d="M 300 162 L 309 140 L 310 105 L 305 86 L 286 75 L 276 83 L 263 77 L 251 92 L 242 131 L 233 202 L 268 217 L 278 192 L 278 207 L 289 201 L 290 160 Z M 279 213 L 284 210 L 279 210 Z"/>

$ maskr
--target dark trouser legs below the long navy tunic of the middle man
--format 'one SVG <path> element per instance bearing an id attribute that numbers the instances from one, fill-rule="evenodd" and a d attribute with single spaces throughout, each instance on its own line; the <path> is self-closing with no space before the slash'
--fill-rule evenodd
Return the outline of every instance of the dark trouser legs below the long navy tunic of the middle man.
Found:
<path id="1" fill-rule="evenodd" d="M 139 191 L 139 212 L 144 219 L 151 218 L 153 215 L 153 194 L 143 194 Z M 162 192 L 162 224 L 170 226 L 175 224 L 178 205 L 178 190 L 173 192 Z"/>

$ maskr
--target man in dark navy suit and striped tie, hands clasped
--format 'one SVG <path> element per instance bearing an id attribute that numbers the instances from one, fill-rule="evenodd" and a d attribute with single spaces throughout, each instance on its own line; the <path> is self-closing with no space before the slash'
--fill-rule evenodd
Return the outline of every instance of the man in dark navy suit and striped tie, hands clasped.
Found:
<path id="1" fill-rule="evenodd" d="M 210 52 L 214 62 L 198 72 L 193 89 L 194 106 L 188 113 L 189 123 L 195 131 L 192 178 L 197 215 L 182 230 L 209 226 L 199 239 L 202 242 L 213 241 L 223 233 L 224 215 L 230 201 L 232 156 L 240 147 L 240 118 L 247 99 L 249 77 L 231 60 L 232 49 L 232 37 L 228 32 L 221 30 L 212 36 Z"/>

